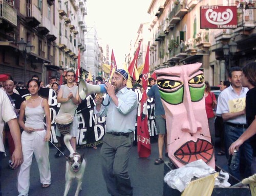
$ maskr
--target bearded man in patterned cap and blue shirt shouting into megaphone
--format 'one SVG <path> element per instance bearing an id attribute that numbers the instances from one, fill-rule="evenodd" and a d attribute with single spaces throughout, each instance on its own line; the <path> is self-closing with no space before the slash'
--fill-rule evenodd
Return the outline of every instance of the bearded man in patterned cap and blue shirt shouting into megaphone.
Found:
<path id="1" fill-rule="evenodd" d="M 133 195 L 127 166 L 134 140 L 137 117 L 137 95 L 126 87 L 128 74 L 117 69 L 111 84 L 105 83 L 108 93 L 103 101 L 97 94 L 94 113 L 106 116 L 106 134 L 101 146 L 102 173 L 111 195 Z M 103 102 L 103 103 L 102 103 Z"/>

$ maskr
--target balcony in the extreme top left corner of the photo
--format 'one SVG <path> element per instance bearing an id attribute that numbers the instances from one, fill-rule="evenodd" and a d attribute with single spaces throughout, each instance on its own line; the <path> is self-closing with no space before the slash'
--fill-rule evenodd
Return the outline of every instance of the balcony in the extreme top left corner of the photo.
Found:
<path id="1" fill-rule="evenodd" d="M 3 23 L 17 27 L 17 10 L 12 8 L 6 1 L 1 1 L 0 5 L 0 19 L 3 19 Z"/>

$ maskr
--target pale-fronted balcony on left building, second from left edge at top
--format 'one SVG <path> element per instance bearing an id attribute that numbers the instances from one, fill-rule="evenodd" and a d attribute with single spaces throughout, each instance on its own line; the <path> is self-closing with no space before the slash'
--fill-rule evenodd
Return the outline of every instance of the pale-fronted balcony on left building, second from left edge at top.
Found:
<path id="1" fill-rule="evenodd" d="M 26 22 L 36 27 L 41 22 L 41 12 L 34 4 L 26 4 Z"/>

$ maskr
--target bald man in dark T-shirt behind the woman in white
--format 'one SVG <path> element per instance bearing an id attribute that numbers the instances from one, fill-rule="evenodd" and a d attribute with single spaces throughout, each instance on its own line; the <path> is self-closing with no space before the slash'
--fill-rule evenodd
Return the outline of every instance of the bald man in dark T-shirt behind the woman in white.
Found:
<path id="1" fill-rule="evenodd" d="M 22 104 L 22 96 L 13 92 L 14 82 L 12 80 L 5 81 L 4 87 L 5 87 L 5 90 L 6 90 L 6 94 L 8 95 L 8 97 L 11 101 L 11 104 L 13 106 L 13 109 L 14 109 L 16 115 L 17 115 L 17 118 L 18 118 L 19 108 L 20 108 L 20 105 Z M 8 138 L 9 155 L 10 155 L 9 167 L 12 168 L 10 163 L 12 162 L 11 157 L 12 157 L 12 154 L 14 152 L 15 146 L 14 146 L 14 141 L 13 141 L 13 138 L 12 138 L 12 135 L 11 135 L 11 132 L 10 132 L 10 129 L 9 129 L 8 125 L 5 126 L 4 135 L 5 135 L 4 140 L 5 140 L 5 137 Z"/>

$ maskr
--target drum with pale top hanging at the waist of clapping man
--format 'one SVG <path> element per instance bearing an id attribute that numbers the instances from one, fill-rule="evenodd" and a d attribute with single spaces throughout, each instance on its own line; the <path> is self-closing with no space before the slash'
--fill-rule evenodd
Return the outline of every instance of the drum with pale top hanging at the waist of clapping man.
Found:
<path id="1" fill-rule="evenodd" d="M 69 113 L 61 113 L 54 118 L 56 126 L 61 134 L 65 135 L 70 132 L 70 128 L 73 122 L 73 116 Z"/>

